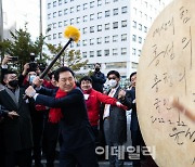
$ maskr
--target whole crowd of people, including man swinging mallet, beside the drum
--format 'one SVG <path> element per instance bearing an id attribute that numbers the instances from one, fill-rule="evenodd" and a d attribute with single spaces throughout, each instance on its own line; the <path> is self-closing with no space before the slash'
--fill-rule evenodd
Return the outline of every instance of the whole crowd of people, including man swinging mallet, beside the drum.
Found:
<path id="1" fill-rule="evenodd" d="M 44 153 L 47 167 L 53 167 L 58 142 L 60 167 L 99 166 L 95 146 L 102 143 L 108 146 L 109 166 L 121 167 L 125 159 L 112 149 L 127 141 L 127 110 L 132 110 L 132 145 L 144 143 L 135 107 L 136 73 L 130 76 L 129 90 L 123 90 L 120 74 L 108 72 L 110 89 L 103 92 L 106 77 L 99 63 L 91 76 L 77 81 L 65 66 L 40 79 L 39 67 L 26 63 L 17 76 L 8 67 L 11 59 L 5 55 L 1 64 L 0 166 L 30 167 L 34 159 L 36 167 L 42 167 Z M 133 160 L 133 166 L 140 162 Z"/>

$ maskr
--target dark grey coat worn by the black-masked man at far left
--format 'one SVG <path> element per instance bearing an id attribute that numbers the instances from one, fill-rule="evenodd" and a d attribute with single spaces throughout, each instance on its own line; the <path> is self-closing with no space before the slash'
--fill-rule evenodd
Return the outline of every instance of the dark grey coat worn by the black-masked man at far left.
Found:
<path id="1" fill-rule="evenodd" d="M 32 147 L 31 119 L 28 104 L 23 100 L 24 89 L 20 88 L 14 95 L 6 89 L 0 90 L 0 105 L 9 112 L 15 111 L 20 116 L 4 118 L 2 126 L 3 144 L 6 152 Z M 16 97 L 16 98 L 15 98 Z"/>

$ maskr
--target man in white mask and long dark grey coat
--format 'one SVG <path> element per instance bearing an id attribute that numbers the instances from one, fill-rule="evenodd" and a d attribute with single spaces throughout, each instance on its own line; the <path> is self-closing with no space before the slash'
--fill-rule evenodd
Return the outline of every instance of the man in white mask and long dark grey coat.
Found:
<path id="1" fill-rule="evenodd" d="M 107 74 L 109 86 L 108 95 L 116 98 L 117 101 L 130 107 L 131 99 L 120 86 L 120 74 L 117 70 L 110 70 Z M 109 147 L 109 166 L 123 166 L 125 152 L 121 153 L 122 144 L 127 141 L 127 117 L 126 111 L 108 104 L 104 107 L 104 134 L 106 144 Z M 121 153 L 119 155 L 119 153 Z"/>

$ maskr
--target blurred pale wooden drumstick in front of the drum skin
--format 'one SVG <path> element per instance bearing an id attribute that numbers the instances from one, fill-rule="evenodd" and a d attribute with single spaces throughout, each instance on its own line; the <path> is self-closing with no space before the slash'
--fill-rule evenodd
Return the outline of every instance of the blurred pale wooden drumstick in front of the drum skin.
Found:
<path id="1" fill-rule="evenodd" d="M 170 100 L 170 103 L 173 107 L 178 108 L 179 112 L 183 113 L 192 121 L 195 121 L 195 115 L 191 110 L 188 110 L 184 104 L 180 103 L 176 98 Z"/>

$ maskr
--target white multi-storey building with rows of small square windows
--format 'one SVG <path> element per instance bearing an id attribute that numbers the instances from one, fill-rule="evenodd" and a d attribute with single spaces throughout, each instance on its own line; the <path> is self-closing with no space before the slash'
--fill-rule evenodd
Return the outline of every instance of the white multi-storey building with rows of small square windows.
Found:
<path id="1" fill-rule="evenodd" d="M 79 70 L 87 74 L 95 63 L 102 72 L 118 70 L 123 78 L 136 70 L 142 46 L 158 13 L 171 0 L 47 0 L 47 41 L 64 44 L 64 28 L 80 29 L 78 43 L 88 65 Z"/>

